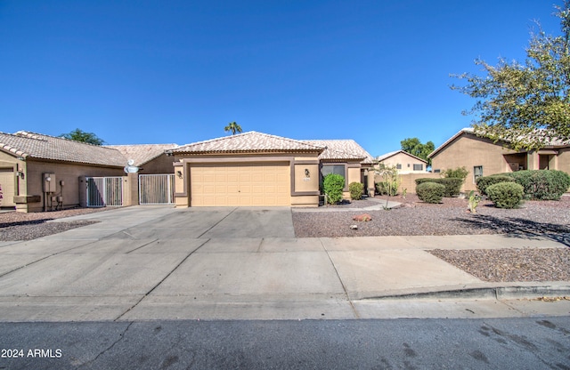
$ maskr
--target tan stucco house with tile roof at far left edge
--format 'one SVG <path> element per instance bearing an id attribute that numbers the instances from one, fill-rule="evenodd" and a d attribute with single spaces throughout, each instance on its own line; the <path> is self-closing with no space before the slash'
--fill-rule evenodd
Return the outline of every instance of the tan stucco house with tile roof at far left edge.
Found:
<path id="1" fill-rule="evenodd" d="M 0 133 L 0 205 L 21 212 L 77 206 L 81 176 L 122 176 L 125 165 L 115 149 L 25 131 Z"/>

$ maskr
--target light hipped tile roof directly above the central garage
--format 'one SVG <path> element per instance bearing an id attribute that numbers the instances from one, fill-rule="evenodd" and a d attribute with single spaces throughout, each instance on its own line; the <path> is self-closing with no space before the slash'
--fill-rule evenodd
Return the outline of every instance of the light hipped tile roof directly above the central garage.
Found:
<path id="1" fill-rule="evenodd" d="M 323 148 L 308 142 L 269 135 L 240 133 L 208 141 L 199 141 L 173 149 L 174 153 L 242 153 L 242 152 L 322 152 Z"/>

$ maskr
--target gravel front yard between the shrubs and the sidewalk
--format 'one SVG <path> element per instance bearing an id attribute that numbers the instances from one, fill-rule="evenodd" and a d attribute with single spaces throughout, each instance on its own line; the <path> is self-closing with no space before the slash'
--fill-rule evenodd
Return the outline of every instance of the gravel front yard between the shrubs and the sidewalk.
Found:
<path id="1" fill-rule="evenodd" d="M 377 197 L 377 200 L 387 197 Z M 483 200 L 476 214 L 468 212 L 465 198 L 444 197 L 441 204 L 421 202 L 413 194 L 388 197 L 402 203 L 391 210 L 366 211 L 371 221 L 358 222 L 350 229 L 354 212 L 294 212 L 296 237 L 375 237 L 413 235 L 480 235 L 480 234 L 566 234 L 570 233 L 570 197 L 559 201 L 525 201 L 517 209 L 501 209 Z M 362 208 L 353 201 L 354 208 Z M 370 204 L 372 201 L 365 201 Z M 378 205 L 377 202 L 376 205 Z M 382 205 L 382 202 L 379 202 Z M 344 206 L 343 206 L 344 207 Z"/>

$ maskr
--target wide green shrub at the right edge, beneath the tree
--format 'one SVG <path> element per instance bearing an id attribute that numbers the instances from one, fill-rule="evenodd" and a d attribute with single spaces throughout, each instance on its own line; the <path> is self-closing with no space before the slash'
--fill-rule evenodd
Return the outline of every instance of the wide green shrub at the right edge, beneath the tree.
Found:
<path id="1" fill-rule="evenodd" d="M 525 170 L 508 175 L 522 185 L 528 199 L 558 200 L 570 188 L 570 176 L 563 171 Z"/>

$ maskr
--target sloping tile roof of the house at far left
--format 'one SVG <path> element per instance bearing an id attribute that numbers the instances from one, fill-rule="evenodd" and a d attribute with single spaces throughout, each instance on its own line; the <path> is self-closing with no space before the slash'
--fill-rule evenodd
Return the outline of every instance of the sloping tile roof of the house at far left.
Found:
<path id="1" fill-rule="evenodd" d="M 24 158 L 89 165 L 126 165 L 126 158 L 116 149 L 26 131 L 0 133 L 0 150 Z"/>

